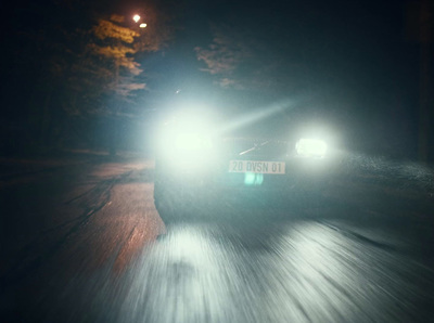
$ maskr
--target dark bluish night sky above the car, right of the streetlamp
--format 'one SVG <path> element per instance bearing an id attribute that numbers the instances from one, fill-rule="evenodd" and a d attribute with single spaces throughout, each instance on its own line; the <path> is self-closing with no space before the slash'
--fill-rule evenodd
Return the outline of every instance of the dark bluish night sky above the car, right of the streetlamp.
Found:
<path id="1" fill-rule="evenodd" d="M 8 26 L 16 14 L 24 14 L 40 29 L 55 25 L 50 15 L 65 4 L 53 9 L 52 2 L 56 1 L 46 2 L 47 7 L 43 2 L 15 4 Z M 149 5 L 157 9 L 158 18 L 167 18 L 173 28 L 170 40 L 156 52 L 137 56 L 146 83 L 131 102 L 139 115 L 158 109 L 177 90 L 231 108 L 266 108 L 277 102 L 292 102 L 290 118 L 303 113 L 327 119 L 348 138 L 349 145 L 381 143 L 411 155 L 416 152 L 420 77 L 412 2 L 61 3 L 71 8 L 67 24 L 80 27 L 92 24 L 94 12 L 128 16 Z M 29 28 L 23 21 L 12 25 L 13 35 Z M 16 54 L 20 38 L 8 34 L 3 35 L 7 43 L 15 48 L 7 55 Z M 23 75 L 28 75 L 24 82 L 28 91 L 38 73 L 23 72 L 5 61 L 9 83 L 22 83 Z M 3 87 L 3 95 L 10 92 Z M 16 95 L 18 91 L 12 92 Z M 8 104 L 10 98 L 5 99 Z M 5 119 L 8 115 L 12 118 L 13 111 Z"/>

